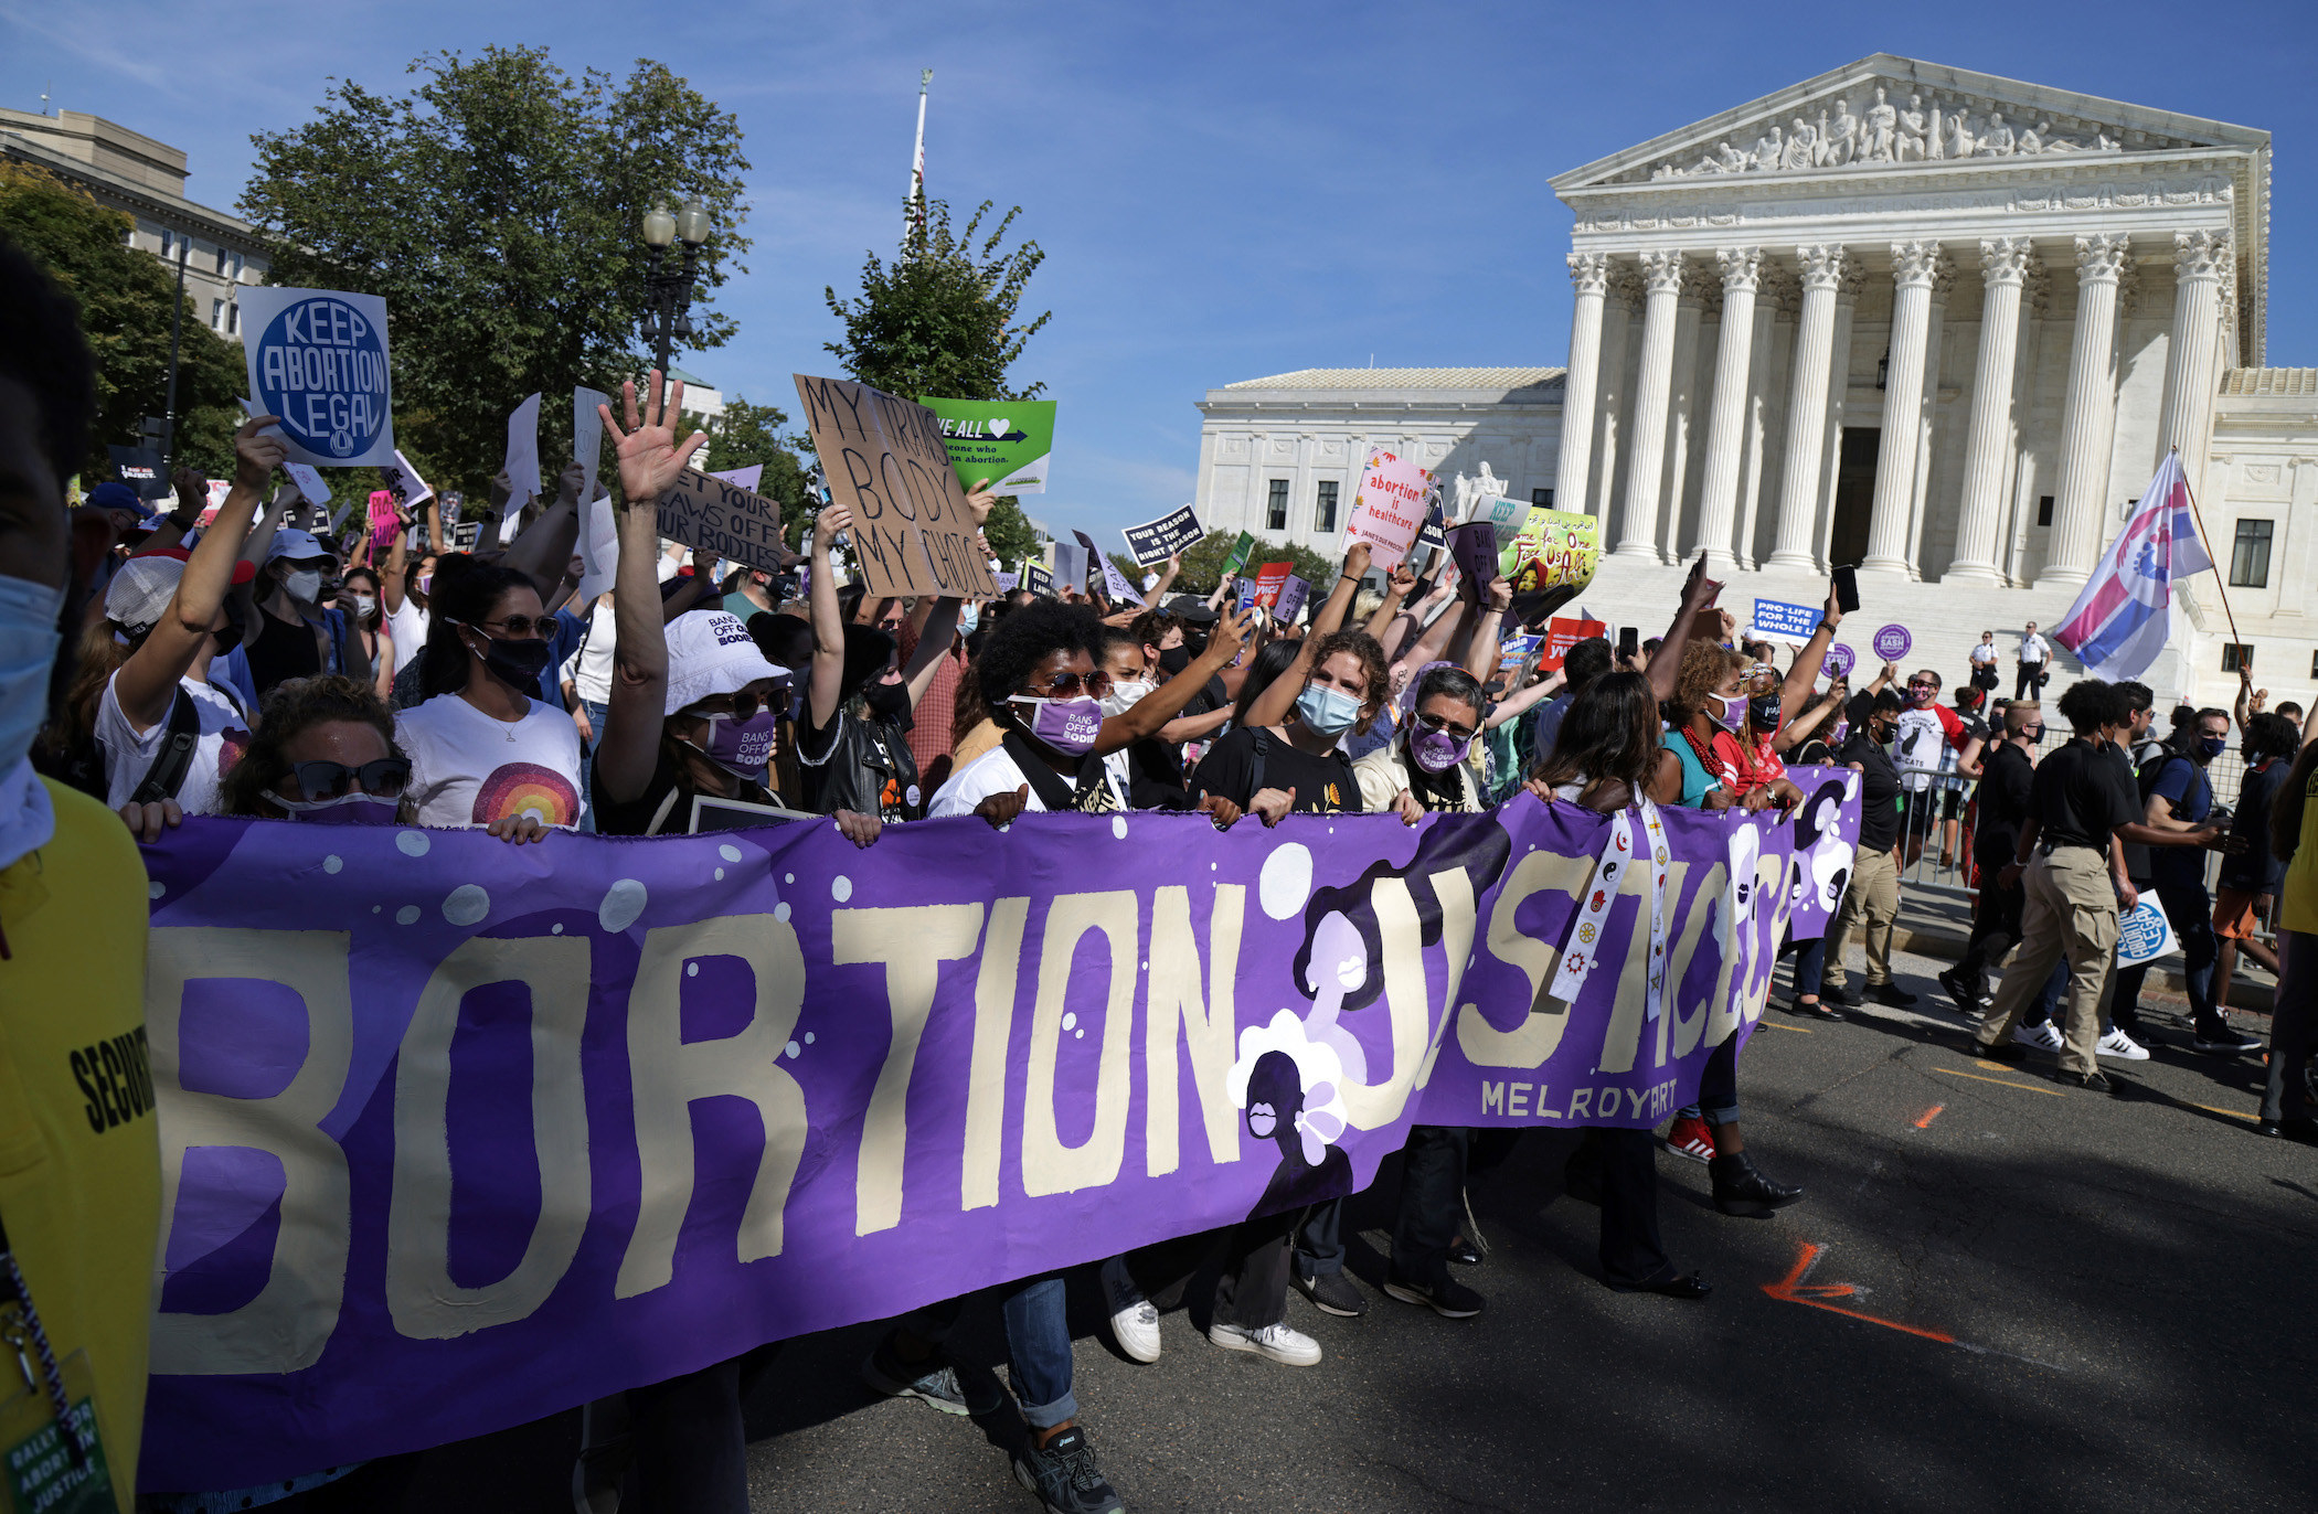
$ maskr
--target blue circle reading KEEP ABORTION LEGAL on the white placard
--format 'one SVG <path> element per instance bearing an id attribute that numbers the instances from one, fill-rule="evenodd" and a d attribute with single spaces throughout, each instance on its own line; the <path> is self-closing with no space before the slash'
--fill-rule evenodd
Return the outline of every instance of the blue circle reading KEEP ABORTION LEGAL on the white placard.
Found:
<path id="1" fill-rule="evenodd" d="M 318 459 L 350 461 L 378 445 L 394 413 L 387 334 L 336 294 L 283 306 L 257 339 L 257 408 Z"/>

